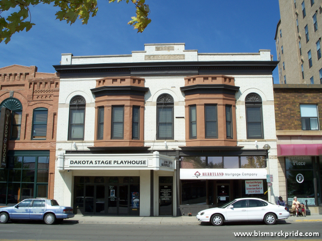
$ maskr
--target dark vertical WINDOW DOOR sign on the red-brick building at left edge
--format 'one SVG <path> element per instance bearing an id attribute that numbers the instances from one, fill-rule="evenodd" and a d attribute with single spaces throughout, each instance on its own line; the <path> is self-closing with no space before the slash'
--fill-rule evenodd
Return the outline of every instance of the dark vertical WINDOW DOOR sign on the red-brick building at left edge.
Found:
<path id="1" fill-rule="evenodd" d="M 11 111 L 6 107 L 1 108 L 0 114 L 0 148 L 1 148 L 1 168 L 7 167 L 8 145 L 10 135 Z"/>

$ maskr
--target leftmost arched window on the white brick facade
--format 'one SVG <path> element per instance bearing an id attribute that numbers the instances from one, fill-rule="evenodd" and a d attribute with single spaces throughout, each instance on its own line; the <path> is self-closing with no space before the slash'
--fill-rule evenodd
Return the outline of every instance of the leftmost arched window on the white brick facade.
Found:
<path id="1" fill-rule="evenodd" d="M 84 140 L 85 98 L 74 96 L 69 102 L 68 140 Z"/>

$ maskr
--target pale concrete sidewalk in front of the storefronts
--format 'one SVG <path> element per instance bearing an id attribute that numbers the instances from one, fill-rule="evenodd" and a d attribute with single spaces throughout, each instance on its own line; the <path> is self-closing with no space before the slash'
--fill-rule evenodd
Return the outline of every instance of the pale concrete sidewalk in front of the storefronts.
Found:
<path id="1" fill-rule="evenodd" d="M 65 220 L 78 223 L 96 224 L 167 224 L 167 225 L 197 225 L 200 222 L 195 216 L 180 217 L 137 217 L 137 216 L 90 216 L 76 214 L 73 218 Z M 286 222 L 322 222 L 322 215 L 311 215 L 306 217 L 290 216 Z"/>

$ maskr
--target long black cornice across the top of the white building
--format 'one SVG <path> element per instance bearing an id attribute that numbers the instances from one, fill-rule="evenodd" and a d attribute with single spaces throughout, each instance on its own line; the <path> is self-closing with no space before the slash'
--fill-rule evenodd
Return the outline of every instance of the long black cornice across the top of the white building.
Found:
<path id="1" fill-rule="evenodd" d="M 265 75 L 278 61 L 181 61 L 53 65 L 60 78 L 150 75 Z"/>

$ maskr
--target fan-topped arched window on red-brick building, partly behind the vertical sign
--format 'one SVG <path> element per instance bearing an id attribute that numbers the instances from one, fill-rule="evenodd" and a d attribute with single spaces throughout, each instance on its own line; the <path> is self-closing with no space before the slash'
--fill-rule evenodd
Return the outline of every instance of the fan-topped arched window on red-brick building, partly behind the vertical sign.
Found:
<path id="1" fill-rule="evenodd" d="M 20 140 L 22 104 L 16 98 L 5 99 L 0 106 L 6 107 L 12 111 L 11 115 L 11 140 Z"/>

